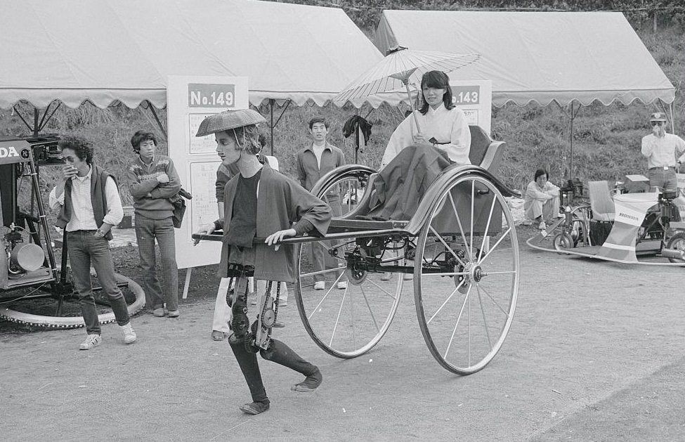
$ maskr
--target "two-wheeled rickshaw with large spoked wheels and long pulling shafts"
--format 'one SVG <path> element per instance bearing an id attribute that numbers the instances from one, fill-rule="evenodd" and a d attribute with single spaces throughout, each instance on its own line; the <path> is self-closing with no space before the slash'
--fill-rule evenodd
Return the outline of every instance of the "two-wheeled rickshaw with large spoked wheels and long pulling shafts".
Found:
<path id="1" fill-rule="evenodd" d="M 332 220 L 324 238 L 283 241 L 296 245 L 295 299 L 306 332 L 332 356 L 361 356 L 389 330 L 408 283 L 433 358 L 459 375 L 481 370 L 502 347 L 516 308 L 518 242 L 504 199 L 514 192 L 482 167 L 453 165 L 429 186 L 411 219 L 367 219 L 359 208 L 370 195 L 374 172 L 350 164 L 320 178 L 312 193 L 326 200 L 333 190 L 344 215 Z M 221 232 L 193 238 L 221 240 Z M 313 271 L 314 242 L 323 242 L 338 264 Z M 329 277 L 327 289 L 315 290 L 317 274 Z M 346 285 L 341 289 L 337 282 Z M 267 341 L 278 296 L 257 303 L 263 308 L 252 332 Z"/>

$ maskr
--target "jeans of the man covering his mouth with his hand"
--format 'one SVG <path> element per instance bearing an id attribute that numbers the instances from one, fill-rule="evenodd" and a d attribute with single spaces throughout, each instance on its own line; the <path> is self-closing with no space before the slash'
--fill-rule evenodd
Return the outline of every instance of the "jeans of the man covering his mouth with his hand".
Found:
<path id="1" fill-rule="evenodd" d="M 98 310 L 91 285 L 91 265 L 95 268 L 103 291 L 110 299 L 117 324 L 129 323 L 129 309 L 124 294 L 117 286 L 110 245 L 105 238 L 94 236 L 95 232 L 96 230 L 67 232 L 67 251 L 74 275 L 74 288 L 79 296 L 81 314 L 88 334 L 100 334 Z"/>

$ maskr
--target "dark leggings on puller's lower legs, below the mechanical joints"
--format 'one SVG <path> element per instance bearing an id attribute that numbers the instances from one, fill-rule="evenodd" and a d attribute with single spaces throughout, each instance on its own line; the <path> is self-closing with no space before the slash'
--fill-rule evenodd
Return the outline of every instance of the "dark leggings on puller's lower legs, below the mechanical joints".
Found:
<path id="1" fill-rule="evenodd" d="M 249 392 L 252 395 L 252 401 L 268 401 L 266 390 L 264 389 L 264 384 L 261 380 L 261 372 L 259 371 L 256 353 L 247 351 L 243 339 L 235 337 L 235 334 L 230 335 L 228 343 L 230 344 L 230 349 L 233 350 L 238 365 L 240 365 L 242 375 L 245 377 L 245 381 L 247 381 Z M 276 339 L 271 339 L 269 351 L 261 350 L 260 353 L 262 358 L 283 365 L 291 370 L 295 370 L 305 376 L 313 375 L 316 370 L 318 370 L 316 365 L 308 363 L 297 353 L 292 351 L 289 346 Z"/>

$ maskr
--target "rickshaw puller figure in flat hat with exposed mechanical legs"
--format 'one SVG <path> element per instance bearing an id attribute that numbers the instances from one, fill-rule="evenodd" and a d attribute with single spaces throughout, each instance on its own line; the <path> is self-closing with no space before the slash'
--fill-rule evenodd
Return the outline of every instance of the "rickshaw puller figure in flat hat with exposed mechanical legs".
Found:
<path id="1" fill-rule="evenodd" d="M 280 242 L 307 233 L 322 237 L 332 218 L 325 202 L 268 164 L 259 162 L 256 154 L 261 145 L 256 124 L 263 122 L 266 120 L 254 110 L 229 110 L 205 118 L 196 135 L 214 134 L 216 151 L 221 152 L 224 162 L 237 164 L 240 170 L 240 174 L 226 183 L 223 219 L 202 226 L 196 233 L 209 235 L 218 228 L 223 229 L 219 276 L 237 278 L 237 288 L 229 292 L 233 320 L 228 343 L 252 395 L 252 403 L 240 407 L 249 415 L 265 412 L 270 406 L 256 351 L 262 358 L 306 376 L 303 382 L 291 387 L 293 391 L 314 391 L 321 384 L 322 375 L 315 365 L 270 337 L 270 327 L 278 316 L 275 301 L 253 311 L 253 317 L 254 313 L 261 315 L 259 322 L 255 320 L 250 326 L 245 279 L 254 272 L 257 280 L 294 282 L 294 247 Z M 256 237 L 266 240 L 253 243 Z M 269 304 L 268 298 L 265 304 Z M 262 341 L 264 346 L 256 346 L 256 337 L 265 325 L 269 335 Z"/>

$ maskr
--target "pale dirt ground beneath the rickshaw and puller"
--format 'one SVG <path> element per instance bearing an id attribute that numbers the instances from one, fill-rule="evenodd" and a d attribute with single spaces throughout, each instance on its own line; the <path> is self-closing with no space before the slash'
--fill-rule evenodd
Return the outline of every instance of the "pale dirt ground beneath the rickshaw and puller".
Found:
<path id="1" fill-rule="evenodd" d="M 135 266 L 124 270 L 136 279 Z M 209 339 L 216 278 L 197 269 L 181 318 L 134 317 L 131 346 L 117 325 L 78 351 L 83 329 L 0 323 L 0 438 L 685 441 L 684 275 L 522 243 L 514 324 L 492 363 L 467 377 L 433 360 L 411 286 L 388 334 L 352 360 L 318 349 L 289 302 L 278 337 L 324 382 L 294 393 L 299 375 L 260 361 L 271 409 L 251 417 L 237 408 L 249 393 L 228 344 Z"/>

